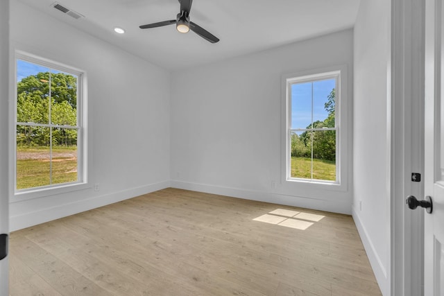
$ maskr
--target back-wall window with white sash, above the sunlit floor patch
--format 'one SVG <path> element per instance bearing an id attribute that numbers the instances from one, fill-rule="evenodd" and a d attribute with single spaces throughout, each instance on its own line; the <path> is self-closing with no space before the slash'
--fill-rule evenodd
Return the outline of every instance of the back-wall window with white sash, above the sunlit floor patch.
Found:
<path id="1" fill-rule="evenodd" d="M 285 78 L 286 177 L 339 183 L 341 71 Z"/>

